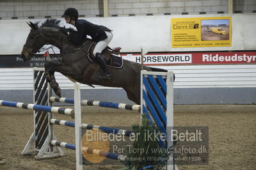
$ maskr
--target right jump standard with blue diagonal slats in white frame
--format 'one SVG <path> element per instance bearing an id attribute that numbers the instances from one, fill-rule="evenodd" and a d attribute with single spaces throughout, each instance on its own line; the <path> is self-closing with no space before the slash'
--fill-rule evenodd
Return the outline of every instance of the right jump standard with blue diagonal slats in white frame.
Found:
<path id="1" fill-rule="evenodd" d="M 154 121 L 161 133 L 166 134 L 164 148 L 171 148 L 173 128 L 173 72 L 141 71 L 141 114 Z M 178 169 L 171 154 L 167 169 Z"/>

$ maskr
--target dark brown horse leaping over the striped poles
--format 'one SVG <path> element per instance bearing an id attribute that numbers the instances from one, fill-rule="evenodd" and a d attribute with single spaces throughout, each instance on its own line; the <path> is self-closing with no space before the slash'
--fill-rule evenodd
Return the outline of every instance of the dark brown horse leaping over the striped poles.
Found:
<path id="1" fill-rule="evenodd" d="M 99 79 L 100 66 L 88 59 L 91 40 L 86 40 L 81 47 L 74 46 L 67 40 L 67 34 L 63 27 L 58 26 L 60 20 L 46 20 L 41 27 L 30 22 L 31 31 L 26 40 L 26 44 L 21 52 L 24 61 L 31 59 L 31 56 L 38 52 L 45 44 L 51 44 L 60 49 L 61 61 L 48 61 L 45 63 L 45 73 L 47 81 L 56 95 L 61 97 L 61 89 L 56 82 L 54 72 L 60 72 L 71 78 L 72 81 L 81 82 L 92 86 L 93 84 L 108 87 L 118 87 L 125 89 L 127 97 L 136 104 L 140 104 L 140 71 L 141 65 L 132 61 L 123 61 L 122 68 L 109 67 L 112 79 Z M 69 30 L 70 31 L 70 30 Z M 108 47 L 103 51 L 106 58 L 111 58 Z M 144 70 L 166 72 L 158 68 L 143 66 Z"/>

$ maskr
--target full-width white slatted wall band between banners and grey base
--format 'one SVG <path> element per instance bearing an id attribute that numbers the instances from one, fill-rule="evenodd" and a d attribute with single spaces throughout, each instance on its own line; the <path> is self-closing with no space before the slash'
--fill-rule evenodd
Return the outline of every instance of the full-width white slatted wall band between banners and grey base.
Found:
<path id="1" fill-rule="evenodd" d="M 187 65 L 157 66 L 175 73 L 175 88 L 248 88 L 256 87 L 256 65 Z M 67 77 L 56 73 L 56 81 L 63 89 L 72 89 Z M 95 86 L 96 88 L 106 88 Z M 32 89 L 32 68 L 1 68 L 0 90 Z M 82 89 L 91 89 L 82 85 Z"/>

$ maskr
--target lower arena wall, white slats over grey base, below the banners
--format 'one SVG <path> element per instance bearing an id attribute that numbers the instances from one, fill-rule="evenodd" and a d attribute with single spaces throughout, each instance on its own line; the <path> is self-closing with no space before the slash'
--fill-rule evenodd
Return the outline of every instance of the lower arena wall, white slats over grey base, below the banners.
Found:
<path id="1" fill-rule="evenodd" d="M 256 65 L 158 66 L 175 73 L 175 104 L 255 104 Z M 56 73 L 63 97 L 72 98 L 73 83 Z M 32 68 L 1 68 L 1 98 L 33 102 Z M 104 94 L 104 95 L 103 95 Z M 81 97 L 106 102 L 132 103 L 120 88 L 81 85 Z"/>

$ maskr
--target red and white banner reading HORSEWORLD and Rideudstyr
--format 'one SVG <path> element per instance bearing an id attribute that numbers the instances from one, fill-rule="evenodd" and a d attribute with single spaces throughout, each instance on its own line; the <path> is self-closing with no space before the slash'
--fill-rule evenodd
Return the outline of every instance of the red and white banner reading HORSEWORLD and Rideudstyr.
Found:
<path id="1" fill-rule="evenodd" d="M 124 59 L 141 63 L 140 54 L 122 54 Z M 234 65 L 256 64 L 256 52 L 188 52 L 146 54 L 144 65 Z"/>

